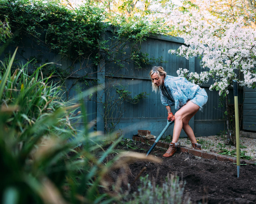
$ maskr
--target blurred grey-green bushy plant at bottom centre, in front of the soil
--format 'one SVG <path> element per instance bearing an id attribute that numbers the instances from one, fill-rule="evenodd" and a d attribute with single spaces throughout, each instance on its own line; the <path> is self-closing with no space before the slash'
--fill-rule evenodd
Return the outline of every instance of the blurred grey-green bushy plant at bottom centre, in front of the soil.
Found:
<path id="1" fill-rule="evenodd" d="M 127 197 L 126 204 L 185 204 L 191 203 L 190 198 L 183 195 L 185 183 L 178 176 L 167 175 L 165 182 L 158 186 L 149 176 L 141 177 L 141 186 L 132 196 Z"/>

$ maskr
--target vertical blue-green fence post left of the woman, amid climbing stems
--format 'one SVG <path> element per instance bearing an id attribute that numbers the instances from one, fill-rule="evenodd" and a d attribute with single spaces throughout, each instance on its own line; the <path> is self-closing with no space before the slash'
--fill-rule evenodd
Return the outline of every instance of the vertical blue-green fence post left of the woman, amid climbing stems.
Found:
<path id="1" fill-rule="evenodd" d="M 103 40 L 105 39 L 105 34 L 102 33 Z M 102 131 L 104 133 L 105 128 L 105 56 L 103 53 L 99 52 L 100 61 L 97 65 L 97 80 L 98 80 L 98 88 L 97 88 L 97 113 L 96 113 L 96 128 L 97 131 Z"/>

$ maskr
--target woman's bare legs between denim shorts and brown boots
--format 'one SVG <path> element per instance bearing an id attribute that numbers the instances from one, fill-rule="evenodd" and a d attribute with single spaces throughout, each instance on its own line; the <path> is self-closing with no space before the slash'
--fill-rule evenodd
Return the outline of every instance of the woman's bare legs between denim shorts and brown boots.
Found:
<path id="1" fill-rule="evenodd" d="M 194 114 L 199 110 L 199 106 L 194 104 L 191 101 L 188 101 L 186 105 L 182 106 L 175 113 L 175 120 L 174 120 L 174 128 L 173 128 L 173 140 L 172 142 L 176 143 L 179 139 L 179 135 L 181 134 L 181 129 L 185 131 L 185 133 L 190 138 L 191 142 L 197 143 L 195 139 L 195 135 L 193 130 L 189 126 L 189 120 L 194 116 Z M 183 127 L 184 124 L 184 127 Z"/>

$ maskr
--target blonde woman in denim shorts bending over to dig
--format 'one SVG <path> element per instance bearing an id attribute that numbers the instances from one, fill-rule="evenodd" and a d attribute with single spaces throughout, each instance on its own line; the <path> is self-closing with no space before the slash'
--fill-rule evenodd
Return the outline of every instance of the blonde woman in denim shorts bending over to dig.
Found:
<path id="1" fill-rule="evenodd" d="M 181 129 L 189 137 L 192 147 L 201 150 L 201 145 L 197 143 L 194 132 L 189 126 L 189 120 L 206 104 L 208 96 L 205 89 L 184 77 L 166 75 L 161 66 L 153 67 L 149 75 L 152 80 L 152 90 L 161 92 L 161 102 L 166 106 L 168 113 L 167 120 L 174 121 L 173 139 L 163 158 L 169 158 L 176 152 Z M 178 109 L 175 115 L 171 112 L 172 105 L 175 105 L 176 110 Z"/>

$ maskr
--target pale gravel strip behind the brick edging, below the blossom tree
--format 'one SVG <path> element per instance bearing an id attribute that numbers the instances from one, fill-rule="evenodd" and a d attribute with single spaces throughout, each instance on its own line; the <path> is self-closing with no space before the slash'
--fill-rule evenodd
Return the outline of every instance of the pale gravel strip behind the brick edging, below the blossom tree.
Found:
<path id="1" fill-rule="evenodd" d="M 234 146 L 224 146 L 224 138 L 219 135 L 212 135 L 209 137 L 196 137 L 198 140 L 198 143 L 202 144 L 202 150 L 205 151 L 219 151 L 219 148 L 225 148 L 227 150 L 235 150 L 236 148 Z M 178 143 L 180 142 L 181 145 L 190 147 L 191 142 L 189 138 L 179 138 Z M 246 156 L 251 156 L 252 159 L 256 161 L 256 139 L 253 138 L 246 138 L 241 137 L 240 138 L 240 150 L 246 151 Z"/>

